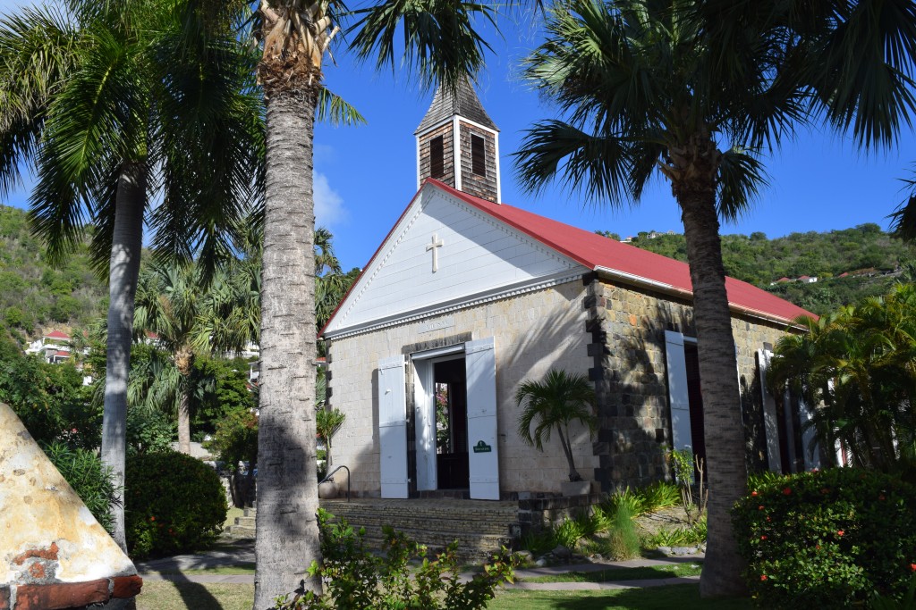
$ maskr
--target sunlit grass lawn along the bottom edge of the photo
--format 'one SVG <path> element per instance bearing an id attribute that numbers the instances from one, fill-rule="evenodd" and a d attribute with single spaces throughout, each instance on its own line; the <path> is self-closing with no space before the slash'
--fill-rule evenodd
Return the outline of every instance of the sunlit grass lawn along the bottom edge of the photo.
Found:
<path id="1" fill-rule="evenodd" d="M 143 583 L 137 610 L 250 610 L 252 584 Z M 739 610 L 747 599 L 701 601 L 699 585 L 613 591 L 500 591 L 488 610 Z"/>

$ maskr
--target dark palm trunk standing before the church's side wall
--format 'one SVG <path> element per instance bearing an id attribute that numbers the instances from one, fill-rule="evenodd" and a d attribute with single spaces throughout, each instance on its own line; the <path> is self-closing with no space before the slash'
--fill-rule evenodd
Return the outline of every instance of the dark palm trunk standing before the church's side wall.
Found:
<path id="1" fill-rule="evenodd" d="M 708 546 L 700 594 L 702 597 L 744 594 L 741 578 L 744 562 L 732 532 L 730 509 L 747 490 L 747 464 L 714 183 L 710 181 L 708 188 L 682 190 L 678 195 L 693 285 L 710 491 Z"/>

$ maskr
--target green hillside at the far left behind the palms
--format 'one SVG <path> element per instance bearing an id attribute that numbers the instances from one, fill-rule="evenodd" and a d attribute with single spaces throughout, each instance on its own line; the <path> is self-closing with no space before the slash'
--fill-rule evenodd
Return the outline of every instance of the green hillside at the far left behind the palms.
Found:
<path id="1" fill-rule="evenodd" d="M 104 316 L 108 289 L 93 274 L 86 247 L 57 268 L 44 250 L 29 232 L 26 212 L 0 206 L 0 325 L 36 337 Z"/>

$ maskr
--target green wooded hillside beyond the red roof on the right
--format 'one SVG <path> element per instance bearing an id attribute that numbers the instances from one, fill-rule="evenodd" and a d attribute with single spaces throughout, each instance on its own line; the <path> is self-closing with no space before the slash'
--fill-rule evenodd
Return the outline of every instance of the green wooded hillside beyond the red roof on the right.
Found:
<path id="1" fill-rule="evenodd" d="M 607 231 L 598 232 L 616 237 Z M 687 261 L 687 246 L 681 234 L 640 232 L 631 243 Z M 877 224 L 869 223 L 824 233 L 791 233 L 774 240 L 759 232 L 749 236 L 723 235 L 722 258 L 725 273 L 732 277 L 779 294 L 815 314 L 825 314 L 838 306 L 888 292 L 900 278 L 901 268 L 916 262 L 916 252 Z M 802 275 L 818 281 L 772 284 L 783 277 L 795 279 Z"/>

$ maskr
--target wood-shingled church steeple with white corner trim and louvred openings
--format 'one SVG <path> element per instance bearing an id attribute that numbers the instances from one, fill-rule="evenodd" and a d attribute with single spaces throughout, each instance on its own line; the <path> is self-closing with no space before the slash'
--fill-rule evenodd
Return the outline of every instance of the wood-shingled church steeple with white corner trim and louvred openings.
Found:
<path id="1" fill-rule="evenodd" d="M 468 80 L 440 85 L 414 132 L 417 181 L 436 178 L 475 197 L 500 202 L 499 130 Z"/>

